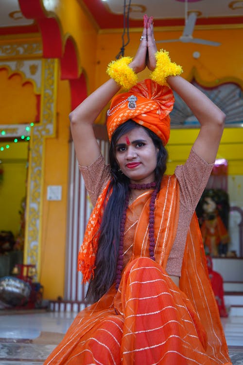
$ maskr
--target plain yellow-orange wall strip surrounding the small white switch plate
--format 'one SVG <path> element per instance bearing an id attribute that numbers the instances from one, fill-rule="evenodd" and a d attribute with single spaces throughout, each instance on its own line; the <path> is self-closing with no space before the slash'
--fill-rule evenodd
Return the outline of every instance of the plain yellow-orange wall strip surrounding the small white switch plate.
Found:
<path id="1" fill-rule="evenodd" d="M 40 282 L 46 298 L 63 296 L 67 227 L 70 91 L 59 81 L 56 138 L 46 140 Z M 47 186 L 61 185 L 62 200 L 47 201 Z"/>

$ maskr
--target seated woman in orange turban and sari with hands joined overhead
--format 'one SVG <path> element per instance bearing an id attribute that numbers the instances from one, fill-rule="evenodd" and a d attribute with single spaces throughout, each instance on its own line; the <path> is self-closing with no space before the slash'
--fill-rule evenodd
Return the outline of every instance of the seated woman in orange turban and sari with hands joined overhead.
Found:
<path id="1" fill-rule="evenodd" d="M 156 53 L 152 18 L 144 17 L 140 40 L 134 59 L 112 63 L 111 78 L 70 114 L 95 205 L 79 255 L 94 303 L 77 315 L 46 365 L 231 364 L 193 215 L 225 115 L 178 75 L 181 68 L 166 53 Z M 112 99 L 110 166 L 92 128 L 121 85 L 135 84 L 146 66 L 160 84 L 167 80 L 201 124 L 188 161 L 173 176 L 164 175 L 174 103 L 168 86 L 145 80 Z"/>

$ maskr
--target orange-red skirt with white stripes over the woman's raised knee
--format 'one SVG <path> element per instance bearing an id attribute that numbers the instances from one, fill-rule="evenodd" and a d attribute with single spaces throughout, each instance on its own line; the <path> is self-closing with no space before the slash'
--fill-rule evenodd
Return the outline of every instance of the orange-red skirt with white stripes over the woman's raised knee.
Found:
<path id="1" fill-rule="evenodd" d="M 231 364 L 210 357 L 207 335 L 187 296 L 147 257 L 125 268 L 114 286 L 74 319 L 48 364 Z"/>

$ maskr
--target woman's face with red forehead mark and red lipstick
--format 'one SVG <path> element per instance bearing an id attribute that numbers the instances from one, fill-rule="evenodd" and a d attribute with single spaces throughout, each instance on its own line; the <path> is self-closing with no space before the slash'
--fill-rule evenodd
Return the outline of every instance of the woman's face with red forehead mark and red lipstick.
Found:
<path id="1" fill-rule="evenodd" d="M 158 149 L 144 128 L 123 134 L 115 148 L 117 163 L 131 183 L 154 182 Z"/>

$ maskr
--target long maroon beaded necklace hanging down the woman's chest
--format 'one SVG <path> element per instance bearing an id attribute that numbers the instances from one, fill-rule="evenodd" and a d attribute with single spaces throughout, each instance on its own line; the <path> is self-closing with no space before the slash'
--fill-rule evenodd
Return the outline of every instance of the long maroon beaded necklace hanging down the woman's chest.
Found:
<path id="1" fill-rule="evenodd" d="M 156 183 L 149 184 L 129 184 L 129 189 L 145 190 L 154 188 L 151 194 L 151 199 L 149 203 L 149 256 L 152 260 L 155 260 L 155 200 L 157 196 L 157 189 L 155 189 Z M 130 190 L 128 190 L 125 198 L 124 210 L 121 216 L 120 225 L 120 242 L 119 242 L 119 252 L 117 260 L 117 272 L 116 272 L 116 290 L 118 290 L 121 282 L 121 272 L 123 268 L 123 243 L 124 243 L 124 231 L 125 231 L 125 221 L 126 221 L 126 211 L 129 204 Z"/>

